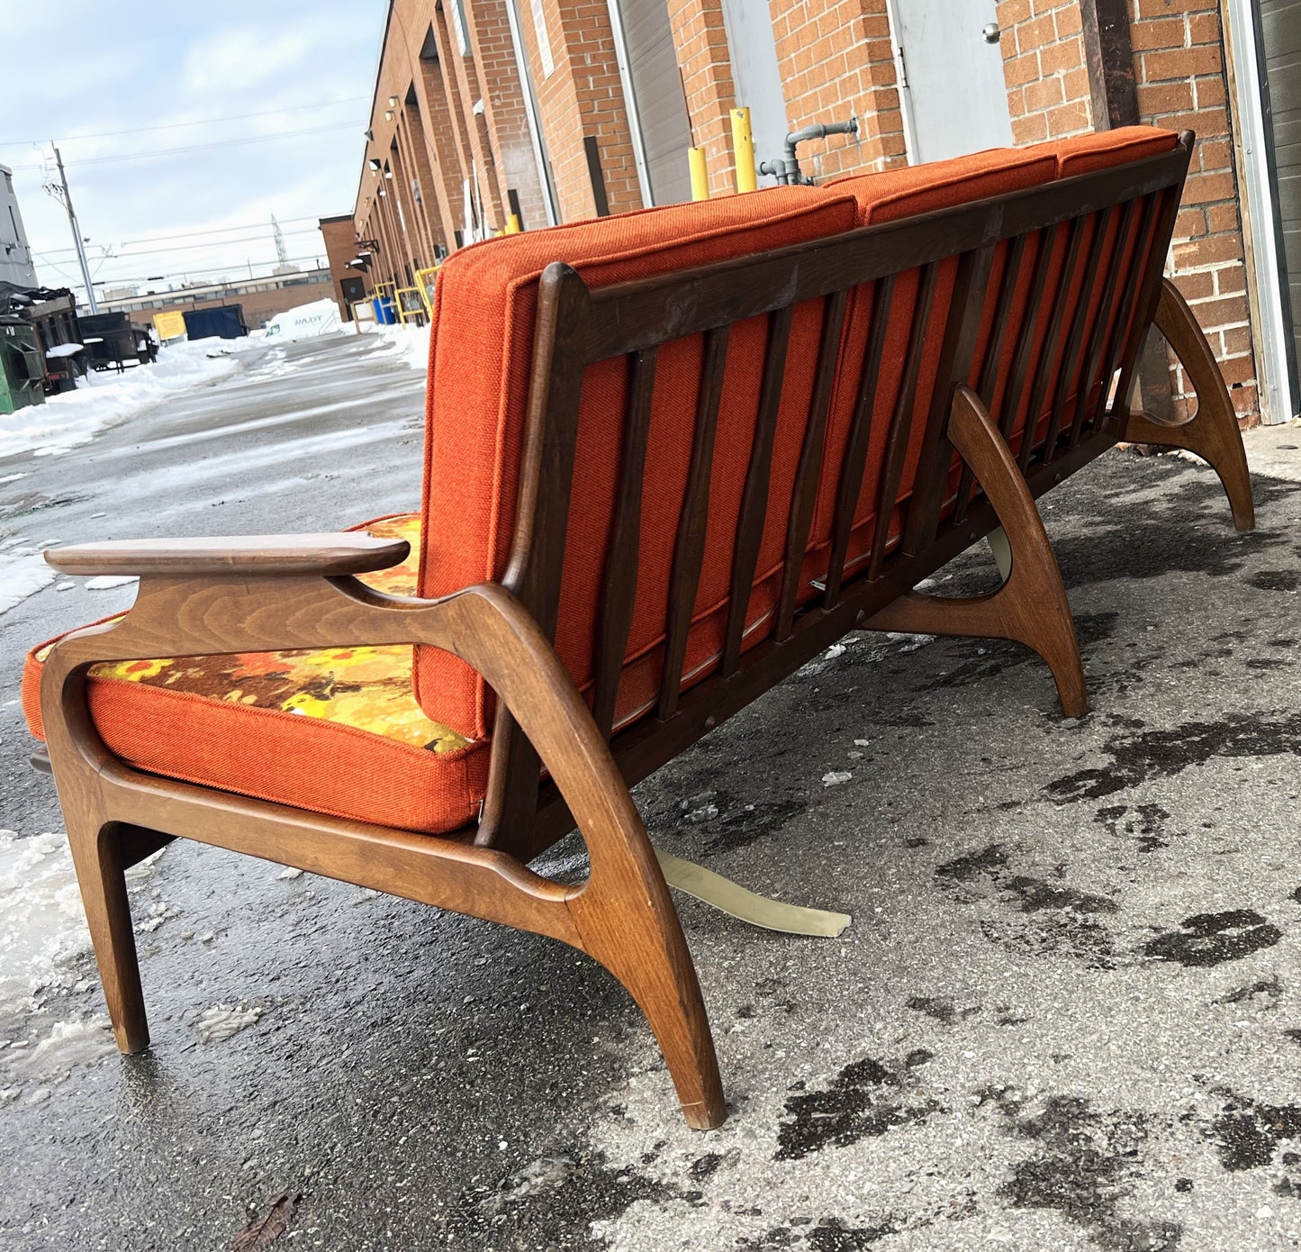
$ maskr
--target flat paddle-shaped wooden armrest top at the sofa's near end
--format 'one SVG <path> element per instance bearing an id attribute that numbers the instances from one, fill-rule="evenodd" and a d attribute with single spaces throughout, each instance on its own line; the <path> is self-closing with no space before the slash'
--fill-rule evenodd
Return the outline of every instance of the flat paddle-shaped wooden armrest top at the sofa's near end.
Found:
<path id="1" fill-rule="evenodd" d="M 121 539 L 51 548 L 46 560 L 62 574 L 164 574 L 251 578 L 330 578 L 389 569 L 406 560 L 405 539 L 359 531 L 330 535 L 235 535 L 226 539 Z"/>

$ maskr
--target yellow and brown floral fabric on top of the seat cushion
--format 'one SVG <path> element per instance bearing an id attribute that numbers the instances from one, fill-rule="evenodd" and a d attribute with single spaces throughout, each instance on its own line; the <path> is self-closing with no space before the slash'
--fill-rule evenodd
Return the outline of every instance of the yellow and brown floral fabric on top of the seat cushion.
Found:
<path id="1" fill-rule="evenodd" d="M 360 579 L 396 596 L 415 595 L 420 560 L 420 514 L 384 518 L 360 527 L 382 539 L 406 539 L 401 564 Z M 36 655 L 43 661 L 48 648 Z M 92 679 L 137 682 L 209 700 L 316 717 L 433 752 L 467 746 L 455 731 L 431 721 L 415 700 L 411 648 L 325 648 L 307 652 L 241 652 L 96 665 Z"/>

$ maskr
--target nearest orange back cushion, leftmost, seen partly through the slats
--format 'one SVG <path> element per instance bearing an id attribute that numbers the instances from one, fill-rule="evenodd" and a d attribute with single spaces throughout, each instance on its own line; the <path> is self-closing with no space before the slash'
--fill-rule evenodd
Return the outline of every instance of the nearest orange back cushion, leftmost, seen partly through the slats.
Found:
<path id="1" fill-rule="evenodd" d="M 425 532 L 420 593 L 437 596 L 505 573 L 528 396 L 537 280 L 556 260 L 591 288 L 669 273 L 809 239 L 855 225 L 855 203 L 813 187 L 647 210 L 550 230 L 506 236 L 455 252 L 442 267 L 433 308 L 425 445 Z M 821 331 L 821 307 L 794 320 L 773 458 L 771 498 L 790 498 Z M 732 536 L 758 403 L 768 319 L 732 329 L 718 416 L 705 564 L 688 643 L 687 679 L 706 673 L 718 652 L 731 569 Z M 662 653 L 673 540 L 686 489 L 699 390 L 700 337 L 658 354 L 652 403 L 641 549 L 617 718 L 649 703 Z M 566 540 L 557 651 L 580 688 L 591 686 L 597 605 L 615 508 L 627 366 L 587 370 Z M 761 636 L 771 605 L 785 515 L 770 510 L 747 613 L 747 643 Z M 416 694 L 425 709 L 471 738 L 488 734 L 490 692 L 448 653 L 418 649 Z"/>

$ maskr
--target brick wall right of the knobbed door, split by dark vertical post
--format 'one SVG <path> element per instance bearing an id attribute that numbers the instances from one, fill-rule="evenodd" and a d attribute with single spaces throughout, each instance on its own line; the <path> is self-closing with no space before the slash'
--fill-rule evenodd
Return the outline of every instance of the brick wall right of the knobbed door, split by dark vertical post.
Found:
<path id="1" fill-rule="evenodd" d="M 1142 122 L 1197 133 L 1166 272 L 1192 305 L 1229 385 L 1239 418 L 1259 420 L 1246 298 L 1242 223 L 1227 108 L 1218 0 L 1125 0 Z M 1093 129 L 1076 0 L 1000 0 L 1003 69 L 1019 143 Z M 1171 366 L 1176 414 L 1183 371 Z"/>

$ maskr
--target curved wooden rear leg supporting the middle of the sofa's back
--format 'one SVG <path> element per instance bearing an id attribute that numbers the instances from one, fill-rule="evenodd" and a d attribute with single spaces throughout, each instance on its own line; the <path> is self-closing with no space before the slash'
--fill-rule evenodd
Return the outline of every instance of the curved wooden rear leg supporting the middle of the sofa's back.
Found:
<path id="1" fill-rule="evenodd" d="M 1013 639 L 1049 664 L 1067 717 L 1089 712 L 1084 666 L 1071 605 L 1047 532 L 1025 479 L 980 397 L 954 393 L 948 437 L 985 489 L 1011 554 L 1011 569 L 993 595 L 948 599 L 905 592 L 865 623 L 868 630 Z"/>

